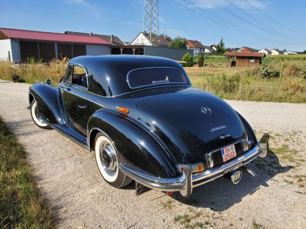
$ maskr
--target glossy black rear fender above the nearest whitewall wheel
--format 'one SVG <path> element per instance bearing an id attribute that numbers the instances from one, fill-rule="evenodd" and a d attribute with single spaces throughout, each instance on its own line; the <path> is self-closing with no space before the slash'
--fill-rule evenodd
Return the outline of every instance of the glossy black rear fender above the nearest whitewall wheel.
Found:
<path id="1" fill-rule="evenodd" d="M 121 163 L 162 178 L 179 176 L 175 162 L 161 145 L 131 120 L 100 111 L 90 117 L 87 127 L 89 149 L 93 149 L 95 135 L 102 130 L 114 142 Z"/>

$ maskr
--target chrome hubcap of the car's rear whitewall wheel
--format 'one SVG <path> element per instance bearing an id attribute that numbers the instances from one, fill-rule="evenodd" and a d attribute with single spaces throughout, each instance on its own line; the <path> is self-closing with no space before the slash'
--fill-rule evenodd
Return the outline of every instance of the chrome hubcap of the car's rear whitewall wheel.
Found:
<path id="1" fill-rule="evenodd" d="M 109 142 L 104 141 L 101 143 L 99 155 L 103 169 L 109 176 L 114 176 L 117 171 L 118 163 L 116 153 Z"/>

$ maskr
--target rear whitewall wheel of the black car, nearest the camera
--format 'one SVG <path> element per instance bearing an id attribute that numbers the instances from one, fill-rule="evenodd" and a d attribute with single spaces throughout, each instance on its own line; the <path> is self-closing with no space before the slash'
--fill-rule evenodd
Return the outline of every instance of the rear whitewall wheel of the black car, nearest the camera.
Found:
<path id="1" fill-rule="evenodd" d="M 132 182 L 119 169 L 119 157 L 112 141 L 103 133 L 98 133 L 94 143 L 95 159 L 103 179 L 115 188 L 121 188 Z"/>

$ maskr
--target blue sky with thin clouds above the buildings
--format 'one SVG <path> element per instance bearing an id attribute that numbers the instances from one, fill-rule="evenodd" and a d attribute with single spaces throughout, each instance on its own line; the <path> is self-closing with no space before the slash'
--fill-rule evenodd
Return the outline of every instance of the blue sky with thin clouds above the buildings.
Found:
<path id="1" fill-rule="evenodd" d="M 223 37 L 226 47 L 286 48 L 290 51 L 306 49 L 306 1 L 304 0 L 160 0 L 159 2 L 160 34 L 166 31 L 166 34 L 172 38 L 182 36 L 210 45 L 217 44 Z M 219 21 L 225 26 L 199 14 Z M 142 30 L 142 19 L 143 0 L 0 0 L 0 27 L 58 33 L 69 30 L 114 34 L 122 41 L 132 41 Z M 228 26 L 235 26 L 236 31 Z"/>

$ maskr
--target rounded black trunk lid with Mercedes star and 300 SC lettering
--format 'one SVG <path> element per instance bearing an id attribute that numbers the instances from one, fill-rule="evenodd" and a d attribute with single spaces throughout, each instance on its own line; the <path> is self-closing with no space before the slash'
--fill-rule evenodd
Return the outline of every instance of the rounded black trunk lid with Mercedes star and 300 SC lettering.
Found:
<path id="1" fill-rule="evenodd" d="M 138 103 L 137 109 L 187 157 L 209 153 L 245 136 L 243 124 L 230 105 L 197 89 L 157 95 Z"/>

